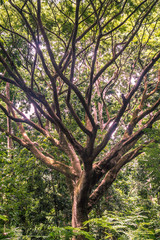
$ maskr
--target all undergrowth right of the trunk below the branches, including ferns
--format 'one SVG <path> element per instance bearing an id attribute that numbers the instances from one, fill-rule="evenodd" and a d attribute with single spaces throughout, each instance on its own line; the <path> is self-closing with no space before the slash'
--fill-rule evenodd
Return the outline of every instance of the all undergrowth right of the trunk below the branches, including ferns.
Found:
<path id="1" fill-rule="evenodd" d="M 121 170 L 86 222 L 95 239 L 159 239 L 160 205 L 154 169 L 157 171 L 153 165 L 150 174 L 150 168 L 139 157 Z"/>

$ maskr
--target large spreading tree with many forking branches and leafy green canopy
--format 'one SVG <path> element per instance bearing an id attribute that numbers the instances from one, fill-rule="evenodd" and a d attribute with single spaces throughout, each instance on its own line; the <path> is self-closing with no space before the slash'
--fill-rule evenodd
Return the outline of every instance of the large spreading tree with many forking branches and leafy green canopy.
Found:
<path id="1" fill-rule="evenodd" d="M 66 177 L 73 227 L 154 141 L 145 133 L 160 119 L 159 7 L 1 1 L 0 131 Z"/>

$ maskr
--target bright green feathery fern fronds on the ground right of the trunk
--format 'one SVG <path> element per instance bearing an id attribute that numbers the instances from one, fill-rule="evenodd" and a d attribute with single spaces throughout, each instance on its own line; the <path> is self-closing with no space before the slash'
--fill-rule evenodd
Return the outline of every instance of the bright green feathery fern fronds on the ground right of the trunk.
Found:
<path id="1" fill-rule="evenodd" d="M 106 217 L 93 218 L 85 222 L 92 226 L 94 236 L 97 234 L 95 231 L 97 226 L 100 226 L 103 229 L 103 238 L 101 239 L 157 239 L 159 229 L 156 229 L 155 232 L 153 228 L 155 223 L 144 216 L 143 212 L 130 212 L 130 215 L 105 212 L 104 215 Z M 159 223 L 160 221 L 157 224 Z"/>

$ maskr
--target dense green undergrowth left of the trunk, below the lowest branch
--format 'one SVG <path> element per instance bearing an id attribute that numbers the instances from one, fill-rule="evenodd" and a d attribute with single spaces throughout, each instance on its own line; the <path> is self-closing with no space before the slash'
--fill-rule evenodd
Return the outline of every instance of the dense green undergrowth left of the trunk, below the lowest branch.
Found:
<path id="1" fill-rule="evenodd" d="M 10 150 L 10 156 L 2 153 L 0 226 L 6 225 L 7 236 L 18 236 L 12 228 L 23 236 L 47 236 L 51 226 L 67 225 L 71 203 L 65 178 L 46 169 L 25 149 Z"/>

